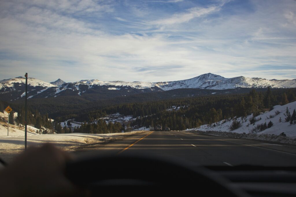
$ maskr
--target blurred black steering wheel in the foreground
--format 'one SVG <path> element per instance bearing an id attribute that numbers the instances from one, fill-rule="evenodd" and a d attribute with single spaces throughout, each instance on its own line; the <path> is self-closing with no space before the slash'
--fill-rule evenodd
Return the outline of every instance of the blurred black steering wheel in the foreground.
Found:
<path id="1" fill-rule="evenodd" d="M 102 191 L 134 194 L 135 189 L 145 195 L 194 192 L 207 196 L 247 196 L 242 191 L 229 188 L 225 184 L 227 180 L 202 167 L 190 169 L 176 162 L 143 156 L 80 159 L 67 164 L 66 176 L 79 187 L 89 190 L 91 196 L 102 196 Z"/>

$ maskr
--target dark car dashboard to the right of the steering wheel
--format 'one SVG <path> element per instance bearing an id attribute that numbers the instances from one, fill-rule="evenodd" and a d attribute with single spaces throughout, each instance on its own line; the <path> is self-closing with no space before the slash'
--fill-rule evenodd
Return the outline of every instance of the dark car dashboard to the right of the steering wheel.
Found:
<path id="1" fill-rule="evenodd" d="M 229 186 L 250 196 L 296 196 L 296 167 L 208 166 L 210 171 L 229 180 Z"/>

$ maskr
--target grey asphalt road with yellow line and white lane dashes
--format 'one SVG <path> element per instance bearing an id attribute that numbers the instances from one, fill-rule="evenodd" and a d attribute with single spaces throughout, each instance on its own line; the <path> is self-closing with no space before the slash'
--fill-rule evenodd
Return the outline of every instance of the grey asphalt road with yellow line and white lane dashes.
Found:
<path id="1" fill-rule="evenodd" d="M 145 131 L 77 150 L 78 154 L 90 151 L 107 155 L 155 155 L 187 165 L 296 166 L 296 146 L 181 131 Z"/>

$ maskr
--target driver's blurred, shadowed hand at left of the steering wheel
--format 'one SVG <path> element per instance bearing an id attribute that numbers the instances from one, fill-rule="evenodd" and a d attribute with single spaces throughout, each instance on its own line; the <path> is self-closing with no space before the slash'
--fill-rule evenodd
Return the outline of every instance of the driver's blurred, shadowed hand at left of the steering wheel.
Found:
<path id="1" fill-rule="evenodd" d="M 69 155 L 51 144 L 29 148 L 0 171 L 1 196 L 78 196 L 64 175 Z"/>

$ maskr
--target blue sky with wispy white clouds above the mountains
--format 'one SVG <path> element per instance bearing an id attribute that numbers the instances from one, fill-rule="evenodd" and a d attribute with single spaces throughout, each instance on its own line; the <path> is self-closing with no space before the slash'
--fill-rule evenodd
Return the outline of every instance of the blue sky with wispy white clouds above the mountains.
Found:
<path id="1" fill-rule="evenodd" d="M 1 0 L 0 80 L 296 78 L 295 0 Z"/>

